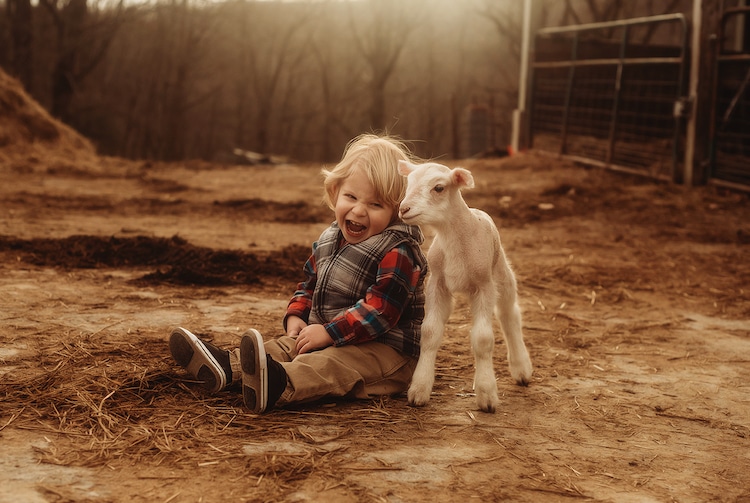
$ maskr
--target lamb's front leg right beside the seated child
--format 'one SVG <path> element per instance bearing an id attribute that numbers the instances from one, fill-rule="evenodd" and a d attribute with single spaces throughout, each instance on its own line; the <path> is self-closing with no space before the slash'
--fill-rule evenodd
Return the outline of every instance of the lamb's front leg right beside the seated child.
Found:
<path id="1" fill-rule="evenodd" d="M 435 272 L 427 281 L 425 290 L 421 350 L 407 393 L 409 403 L 416 406 L 425 405 L 430 400 L 435 383 L 435 359 L 443 340 L 445 323 L 453 309 L 453 297 Z"/>

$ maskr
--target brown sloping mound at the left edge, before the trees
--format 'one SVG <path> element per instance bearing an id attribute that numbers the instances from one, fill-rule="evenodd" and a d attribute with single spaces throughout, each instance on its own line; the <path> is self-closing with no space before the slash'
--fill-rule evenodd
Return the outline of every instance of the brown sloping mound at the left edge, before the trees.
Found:
<path id="1" fill-rule="evenodd" d="M 0 161 L 15 171 L 98 165 L 96 150 L 89 140 L 50 116 L 18 80 L 2 70 Z"/>

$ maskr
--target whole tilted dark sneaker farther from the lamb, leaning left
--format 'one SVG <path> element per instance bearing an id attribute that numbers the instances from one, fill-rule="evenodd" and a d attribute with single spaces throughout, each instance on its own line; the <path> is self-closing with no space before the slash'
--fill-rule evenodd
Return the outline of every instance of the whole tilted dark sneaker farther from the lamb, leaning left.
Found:
<path id="1" fill-rule="evenodd" d="M 226 389 L 234 381 L 231 364 L 234 355 L 200 340 L 189 330 L 182 327 L 172 330 L 169 351 L 177 365 L 187 370 L 211 393 Z"/>

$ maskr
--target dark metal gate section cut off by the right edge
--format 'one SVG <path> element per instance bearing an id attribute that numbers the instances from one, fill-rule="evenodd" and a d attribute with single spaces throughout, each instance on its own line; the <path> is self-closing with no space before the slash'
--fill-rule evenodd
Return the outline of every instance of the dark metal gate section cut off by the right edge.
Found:
<path id="1" fill-rule="evenodd" d="M 750 186 L 750 7 L 727 10 L 719 28 L 711 178 Z"/>

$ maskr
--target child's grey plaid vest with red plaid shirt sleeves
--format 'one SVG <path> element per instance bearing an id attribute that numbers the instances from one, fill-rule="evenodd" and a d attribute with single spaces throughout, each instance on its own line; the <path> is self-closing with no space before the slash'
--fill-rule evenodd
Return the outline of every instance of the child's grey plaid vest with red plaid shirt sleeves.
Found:
<path id="1" fill-rule="evenodd" d="M 297 285 L 286 318 L 322 324 L 334 345 L 383 342 L 419 356 L 427 260 L 418 227 L 396 223 L 357 243 L 334 222 L 313 244 L 307 279 Z"/>

